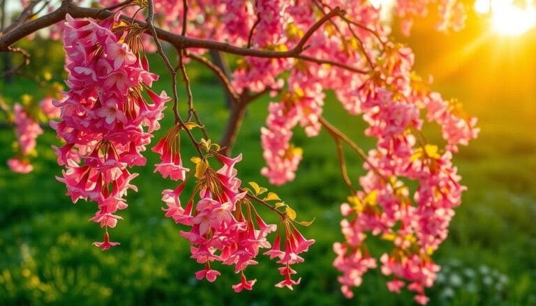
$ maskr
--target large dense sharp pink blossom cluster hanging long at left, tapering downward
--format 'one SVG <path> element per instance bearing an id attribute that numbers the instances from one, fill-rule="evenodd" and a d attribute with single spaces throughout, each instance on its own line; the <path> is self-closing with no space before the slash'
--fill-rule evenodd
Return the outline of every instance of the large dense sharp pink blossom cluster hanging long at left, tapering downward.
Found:
<path id="1" fill-rule="evenodd" d="M 59 165 L 66 169 L 58 177 L 67 186 L 73 203 L 79 199 L 96 201 L 98 211 L 90 220 L 105 227 L 104 241 L 94 243 L 107 250 L 107 229 L 126 208 L 127 190 L 135 173 L 129 167 L 145 165 L 141 155 L 150 134 L 160 128 L 165 92 L 160 95 L 148 88 L 158 79 L 149 72 L 147 58 L 140 56 L 143 29 L 121 22 L 116 13 L 102 21 L 76 20 L 66 15 L 64 49 L 66 84 L 70 91 L 64 100 L 55 100 L 61 108 L 59 122 L 51 122 L 66 144 L 54 147 Z M 142 91 L 147 90 L 151 102 Z M 145 130 L 144 130 L 145 128 Z"/>

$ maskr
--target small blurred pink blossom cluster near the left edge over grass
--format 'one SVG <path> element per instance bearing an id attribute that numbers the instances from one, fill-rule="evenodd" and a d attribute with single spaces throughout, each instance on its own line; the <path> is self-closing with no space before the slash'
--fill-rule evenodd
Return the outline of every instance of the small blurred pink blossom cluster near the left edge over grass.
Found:
<path id="1" fill-rule="evenodd" d="M 36 139 L 43 134 L 43 129 L 39 123 L 32 118 L 22 105 L 15 103 L 13 106 L 15 114 L 15 134 L 17 135 L 18 154 L 8 160 L 11 171 L 26 174 L 34 169 L 29 162 L 29 155 L 34 153 Z"/>

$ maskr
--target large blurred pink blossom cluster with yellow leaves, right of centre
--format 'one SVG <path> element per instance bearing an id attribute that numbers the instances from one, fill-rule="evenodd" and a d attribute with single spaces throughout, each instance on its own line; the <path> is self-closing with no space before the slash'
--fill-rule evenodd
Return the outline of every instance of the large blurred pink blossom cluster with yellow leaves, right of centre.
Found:
<path id="1" fill-rule="evenodd" d="M 437 100 L 431 102 L 430 95 Z M 447 238 L 454 208 L 466 190 L 452 165 L 452 152 L 477 136 L 476 119 L 455 116 L 437 94 L 415 90 L 397 100 L 394 93 L 379 88 L 361 107 L 369 124 L 366 135 L 378 142 L 368 153 L 368 173 L 360 180 L 363 191 L 341 206 L 348 219 L 341 222 L 345 242 L 334 245 L 334 266 L 343 273 L 342 291 L 351 297 L 350 287 L 359 286 L 366 270 L 376 266 L 366 249 L 370 232 L 393 242 L 393 250 L 380 257 L 382 273 L 394 276 L 388 289 L 399 292 L 405 280 L 407 288 L 417 292 L 417 303 L 426 304 L 424 289 L 433 285 L 439 270 L 430 255 Z M 430 121 L 442 126 L 444 151 L 424 142 L 421 108 L 428 111 Z M 418 183 L 414 194 L 399 178 Z"/>

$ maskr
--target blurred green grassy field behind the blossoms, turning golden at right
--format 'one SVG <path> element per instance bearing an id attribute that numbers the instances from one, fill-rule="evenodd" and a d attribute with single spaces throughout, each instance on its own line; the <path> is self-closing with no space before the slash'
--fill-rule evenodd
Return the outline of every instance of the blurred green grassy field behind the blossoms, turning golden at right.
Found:
<path id="1" fill-rule="evenodd" d="M 427 51 L 426 47 L 417 49 L 417 59 L 419 52 Z M 429 64 L 417 61 L 417 68 Z M 528 68 L 533 68 L 534 61 L 530 65 Z M 162 69 L 154 65 L 154 70 Z M 228 116 L 223 91 L 199 68 L 191 71 L 195 103 L 214 139 L 218 139 Z M 442 270 L 438 282 L 429 290 L 431 305 L 534 305 L 535 84 L 524 86 L 521 94 L 508 89 L 514 81 L 506 84 L 498 76 L 487 84 L 484 95 L 484 91 L 475 91 L 476 84 L 486 86 L 474 80 L 478 73 L 475 67 L 467 65 L 463 71 L 459 72 L 461 77 L 446 75 L 440 79 L 437 89 L 445 96 L 463 100 L 468 112 L 479 117 L 482 132 L 456 157 L 463 183 L 469 189 L 456 210 L 449 238 L 435 254 Z M 168 84 L 169 79 L 164 78 L 155 86 L 158 90 L 169 89 Z M 34 91 L 36 86 L 24 79 L 12 84 L 0 82 L 0 93 L 11 102 L 22 93 Z M 179 92 L 184 111 L 184 91 Z M 267 102 L 268 98 L 258 100 L 248 110 L 234 148 L 234 152 L 244 154 L 238 166 L 241 178 L 265 186 L 269 184 L 259 174 L 263 165 L 259 129 Z M 363 135 L 363 123 L 345 115 L 332 97 L 327 99 L 325 116 L 363 148 L 373 145 Z M 171 125 L 170 117 L 168 113 L 156 139 Z M 73 205 L 64 195 L 65 186 L 54 178 L 61 168 L 50 148 L 59 143 L 52 130 L 38 139 L 39 156 L 34 159 L 31 174 L 13 174 L 6 168 L 13 140 L 13 132 L 0 130 L 0 305 L 413 303 L 408 292 L 389 293 L 385 277 L 378 271 L 364 277 L 355 299 L 346 300 L 340 293 L 338 273 L 332 267 L 332 243 L 342 238 L 338 206 L 347 192 L 338 172 L 336 149 L 325 145 L 331 141 L 325 132 L 316 139 L 297 132 L 295 142 L 304 148 L 297 179 L 273 188 L 299 212 L 302 220 L 316 218 L 311 227 L 304 229 L 304 235 L 315 238 L 317 243 L 305 255 L 306 262 L 297 266 L 301 284 L 294 291 L 275 288 L 279 277 L 276 264 L 261 257 L 258 266 L 248 268 L 248 277 L 258 280 L 255 289 L 240 294 L 231 289 L 238 276 L 227 266 L 221 268 L 222 277 L 215 283 L 195 279 L 193 273 L 200 267 L 189 258 L 188 245 L 177 225 L 164 218 L 161 211 L 161 190 L 174 187 L 174 183 L 152 173 L 156 154 L 147 151 L 148 166 L 135 169 L 140 172 L 134 181 L 140 192 L 128 194 L 130 205 L 121 212 L 124 220 L 113 230 L 113 238 L 121 245 L 101 252 L 91 243 L 101 238 L 102 231 L 97 224 L 87 222 L 96 205 L 83 201 Z M 184 146 L 184 160 L 192 153 Z M 362 164 L 354 155 L 348 154 L 348 165 L 354 180 L 362 174 Z"/>

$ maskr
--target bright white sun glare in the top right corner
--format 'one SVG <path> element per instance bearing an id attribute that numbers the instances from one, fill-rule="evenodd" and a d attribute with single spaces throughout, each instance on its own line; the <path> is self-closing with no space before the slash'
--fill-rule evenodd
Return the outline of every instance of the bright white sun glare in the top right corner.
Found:
<path id="1" fill-rule="evenodd" d="M 477 0 L 474 8 L 482 15 L 491 11 L 491 27 L 502 35 L 521 35 L 536 26 L 536 8 L 530 0 L 523 8 L 512 0 Z"/>

